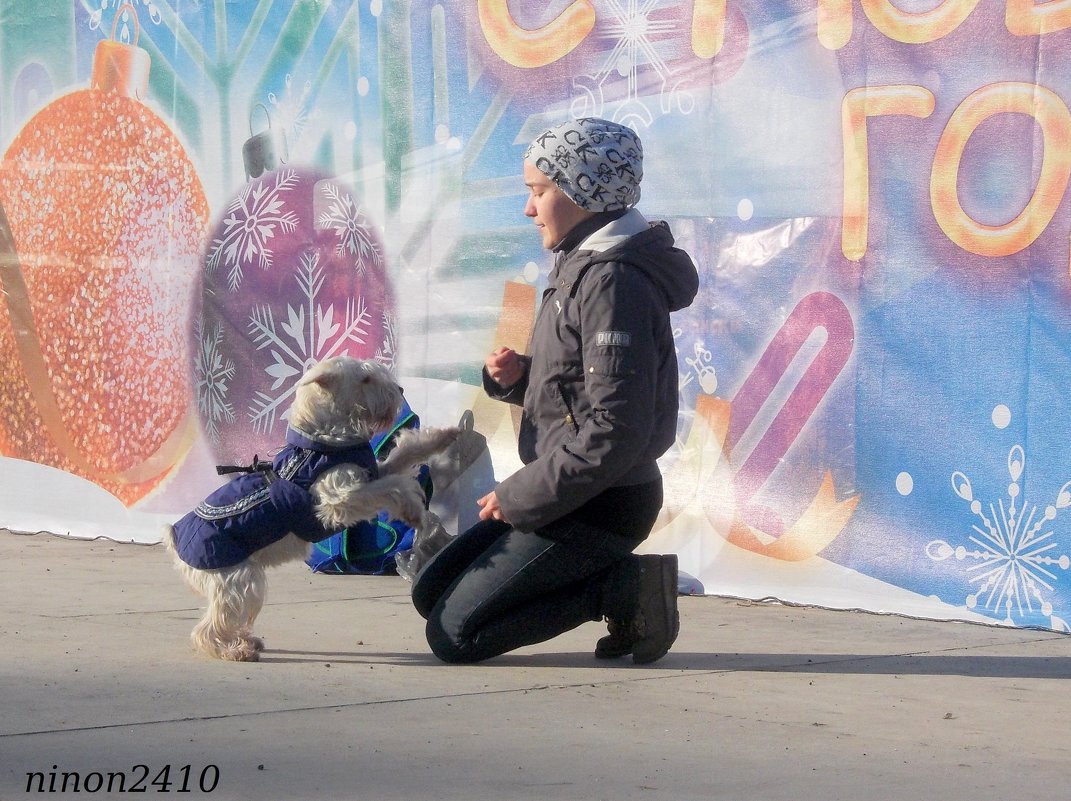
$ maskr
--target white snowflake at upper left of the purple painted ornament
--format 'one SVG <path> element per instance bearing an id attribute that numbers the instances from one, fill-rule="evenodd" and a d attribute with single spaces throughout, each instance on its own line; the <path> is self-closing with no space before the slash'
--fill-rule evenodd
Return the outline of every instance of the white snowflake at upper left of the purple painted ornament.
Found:
<path id="1" fill-rule="evenodd" d="M 282 197 L 298 180 L 295 170 L 280 170 L 272 181 L 254 181 L 230 201 L 223 220 L 223 237 L 212 241 L 207 269 L 214 272 L 222 261 L 227 267 L 231 291 L 242 284 L 243 265 L 252 265 L 255 259 L 261 269 L 271 269 L 271 240 L 276 232 L 289 233 L 298 227 L 298 215 L 286 209 Z"/>

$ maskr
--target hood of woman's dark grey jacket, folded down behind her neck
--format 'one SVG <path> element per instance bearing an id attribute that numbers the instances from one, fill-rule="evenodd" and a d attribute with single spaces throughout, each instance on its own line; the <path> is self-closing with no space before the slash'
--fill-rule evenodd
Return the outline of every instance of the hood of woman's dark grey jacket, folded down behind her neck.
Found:
<path id="1" fill-rule="evenodd" d="M 668 224 L 648 223 L 635 209 L 592 233 L 578 250 L 595 252 L 591 263 L 617 261 L 642 270 L 663 293 L 670 312 L 692 305 L 699 291 L 695 263 L 674 246 Z"/>

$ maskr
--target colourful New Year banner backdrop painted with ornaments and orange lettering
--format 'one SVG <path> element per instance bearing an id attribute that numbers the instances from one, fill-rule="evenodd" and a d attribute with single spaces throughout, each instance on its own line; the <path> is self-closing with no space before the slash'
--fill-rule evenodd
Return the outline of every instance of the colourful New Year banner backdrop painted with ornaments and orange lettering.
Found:
<path id="1" fill-rule="evenodd" d="M 633 126 L 702 288 L 649 550 L 708 593 L 1068 631 L 1071 0 L 0 0 L 0 526 L 154 542 L 389 364 L 516 468 L 522 153 Z"/>

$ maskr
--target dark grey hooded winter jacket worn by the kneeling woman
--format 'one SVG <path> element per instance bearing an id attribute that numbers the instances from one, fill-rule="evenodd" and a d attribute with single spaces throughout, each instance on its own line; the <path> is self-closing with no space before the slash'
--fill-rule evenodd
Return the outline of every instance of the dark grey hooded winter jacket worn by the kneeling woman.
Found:
<path id="1" fill-rule="evenodd" d="M 492 397 L 524 406 L 525 466 L 496 488 L 506 518 L 533 531 L 614 486 L 654 481 L 677 434 L 678 372 L 669 313 L 699 278 L 665 223 L 631 210 L 552 271 L 525 378 Z"/>

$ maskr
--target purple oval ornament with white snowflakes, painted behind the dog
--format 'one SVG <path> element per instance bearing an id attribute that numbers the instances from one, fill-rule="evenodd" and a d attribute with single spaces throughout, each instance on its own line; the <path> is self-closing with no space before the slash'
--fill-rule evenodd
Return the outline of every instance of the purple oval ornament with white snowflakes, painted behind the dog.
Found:
<path id="1" fill-rule="evenodd" d="M 382 242 L 337 179 L 281 167 L 251 180 L 213 225 L 202 268 L 193 381 L 220 464 L 284 444 L 295 383 L 316 362 L 350 356 L 394 367 Z"/>

